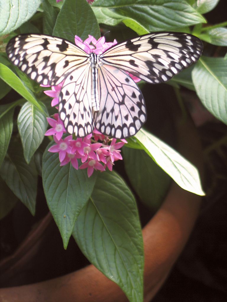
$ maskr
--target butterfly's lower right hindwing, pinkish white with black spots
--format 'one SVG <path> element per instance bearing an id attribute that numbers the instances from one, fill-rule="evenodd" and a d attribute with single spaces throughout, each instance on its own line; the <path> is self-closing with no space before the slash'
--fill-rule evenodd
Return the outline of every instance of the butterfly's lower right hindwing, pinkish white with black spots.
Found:
<path id="1" fill-rule="evenodd" d="M 146 121 L 143 95 L 124 71 L 102 65 L 98 70 L 100 109 L 94 115 L 94 126 L 101 133 L 118 139 L 137 133 Z"/>

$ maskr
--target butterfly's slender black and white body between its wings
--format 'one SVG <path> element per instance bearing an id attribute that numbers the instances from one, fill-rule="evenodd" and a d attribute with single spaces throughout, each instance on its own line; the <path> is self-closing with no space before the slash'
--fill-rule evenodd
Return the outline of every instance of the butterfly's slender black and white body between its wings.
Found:
<path id="1" fill-rule="evenodd" d="M 99 111 L 99 97 L 98 97 L 98 67 L 99 59 L 96 53 L 90 53 L 90 68 L 91 68 L 91 104 L 92 109 Z"/>

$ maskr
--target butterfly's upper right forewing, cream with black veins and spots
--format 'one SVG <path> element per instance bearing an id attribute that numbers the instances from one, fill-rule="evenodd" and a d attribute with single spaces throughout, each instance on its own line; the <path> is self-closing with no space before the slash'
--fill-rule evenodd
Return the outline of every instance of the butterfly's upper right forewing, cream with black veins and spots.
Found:
<path id="1" fill-rule="evenodd" d="M 195 63 L 202 54 L 197 37 L 178 32 L 145 34 L 118 43 L 100 55 L 100 62 L 158 84 Z"/>

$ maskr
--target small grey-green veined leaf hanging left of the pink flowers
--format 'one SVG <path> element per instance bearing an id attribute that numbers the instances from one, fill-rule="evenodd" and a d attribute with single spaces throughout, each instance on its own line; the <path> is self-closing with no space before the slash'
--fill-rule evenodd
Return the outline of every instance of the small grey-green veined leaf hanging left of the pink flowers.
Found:
<path id="1" fill-rule="evenodd" d="M 31 157 L 41 144 L 48 125 L 46 119 L 48 112 L 44 104 L 41 103 L 40 105 L 46 112 L 45 115 L 29 102 L 21 107 L 18 115 L 18 130 L 27 163 L 30 162 Z"/>

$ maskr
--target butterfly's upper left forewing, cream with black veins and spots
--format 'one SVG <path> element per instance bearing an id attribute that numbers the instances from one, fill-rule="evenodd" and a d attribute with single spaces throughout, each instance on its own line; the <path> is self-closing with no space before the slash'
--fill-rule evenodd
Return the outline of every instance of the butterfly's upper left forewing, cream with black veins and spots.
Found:
<path id="1" fill-rule="evenodd" d="M 73 43 L 47 35 L 22 34 L 12 38 L 6 53 L 29 78 L 43 85 L 58 85 L 89 56 Z"/>

